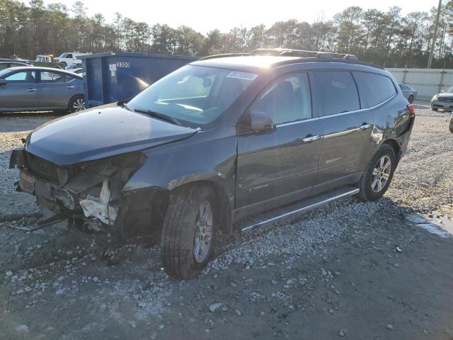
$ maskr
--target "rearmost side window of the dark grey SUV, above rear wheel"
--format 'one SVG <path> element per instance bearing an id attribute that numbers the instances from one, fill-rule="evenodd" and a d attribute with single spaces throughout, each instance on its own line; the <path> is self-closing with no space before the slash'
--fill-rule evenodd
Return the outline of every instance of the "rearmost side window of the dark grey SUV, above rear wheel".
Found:
<path id="1" fill-rule="evenodd" d="M 353 72 L 367 101 L 367 107 L 376 106 L 396 94 L 393 81 L 389 77 L 368 72 Z"/>

